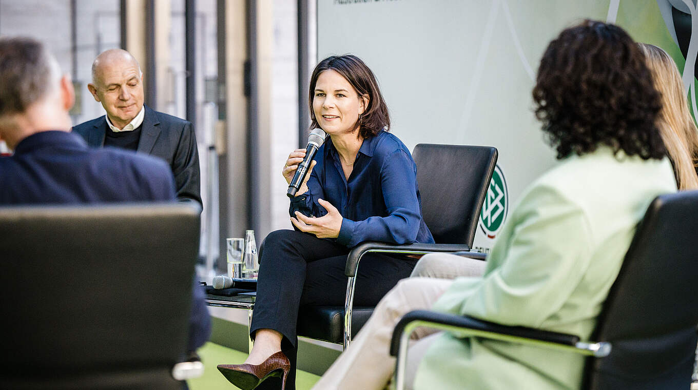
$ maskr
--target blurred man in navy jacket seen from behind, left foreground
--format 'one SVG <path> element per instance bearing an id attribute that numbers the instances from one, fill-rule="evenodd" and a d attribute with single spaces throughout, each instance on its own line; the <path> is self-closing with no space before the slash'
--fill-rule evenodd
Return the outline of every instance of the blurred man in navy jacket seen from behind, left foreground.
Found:
<path id="1" fill-rule="evenodd" d="M 56 59 L 31 38 L 0 38 L 0 205 L 172 201 L 163 161 L 118 149 L 90 149 L 70 133 L 75 92 Z M 194 291 L 187 349 L 208 339 L 203 292 Z"/>

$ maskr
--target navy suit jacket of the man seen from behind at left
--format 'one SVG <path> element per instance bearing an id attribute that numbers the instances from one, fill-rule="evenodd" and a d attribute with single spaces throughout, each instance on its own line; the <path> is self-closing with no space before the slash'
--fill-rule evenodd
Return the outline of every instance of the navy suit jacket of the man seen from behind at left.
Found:
<path id="1" fill-rule="evenodd" d="M 65 131 L 24 138 L 13 156 L 0 157 L 0 205 L 174 202 L 170 167 L 162 160 L 116 148 L 91 149 Z M 209 338 L 204 292 L 194 289 L 188 350 Z"/>

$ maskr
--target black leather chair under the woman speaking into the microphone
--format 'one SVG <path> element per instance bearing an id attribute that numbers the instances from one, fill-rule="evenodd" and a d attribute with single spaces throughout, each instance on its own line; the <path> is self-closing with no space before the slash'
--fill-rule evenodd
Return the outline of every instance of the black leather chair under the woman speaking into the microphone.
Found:
<path id="1" fill-rule="evenodd" d="M 357 268 L 366 253 L 421 255 L 470 250 L 482 202 L 497 163 L 497 149 L 418 144 L 413 151 L 413 158 L 417 165 L 417 183 L 422 197 L 422 216 L 436 243 L 360 243 L 352 249 L 347 259 L 345 306 L 302 306 L 297 324 L 299 336 L 342 343 L 344 348 L 348 347 L 352 336 L 355 336 L 373 313 L 373 307 L 353 307 Z"/>

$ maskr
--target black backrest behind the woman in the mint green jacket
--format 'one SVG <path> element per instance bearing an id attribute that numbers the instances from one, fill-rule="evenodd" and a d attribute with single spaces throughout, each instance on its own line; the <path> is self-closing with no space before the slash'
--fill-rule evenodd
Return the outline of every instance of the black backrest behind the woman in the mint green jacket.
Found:
<path id="1" fill-rule="evenodd" d="M 586 389 L 688 389 L 698 326 L 698 191 L 657 197 L 639 224 L 592 340 Z"/>

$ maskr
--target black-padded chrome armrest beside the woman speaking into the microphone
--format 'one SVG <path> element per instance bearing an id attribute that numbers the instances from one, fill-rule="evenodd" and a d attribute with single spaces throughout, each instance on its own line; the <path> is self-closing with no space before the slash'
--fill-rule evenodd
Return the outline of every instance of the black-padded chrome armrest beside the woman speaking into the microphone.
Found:
<path id="1" fill-rule="evenodd" d="M 369 252 L 380 253 L 404 253 L 406 255 L 423 255 L 424 253 L 442 252 L 453 253 L 470 250 L 466 244 L 458 243 L 385 243 L 378 241 L 364 241 L 355 246 L 347 257 L 344 274 L 349 277 L 356 276 L 356 269 L 359 267 L 361 257 Z"/>

